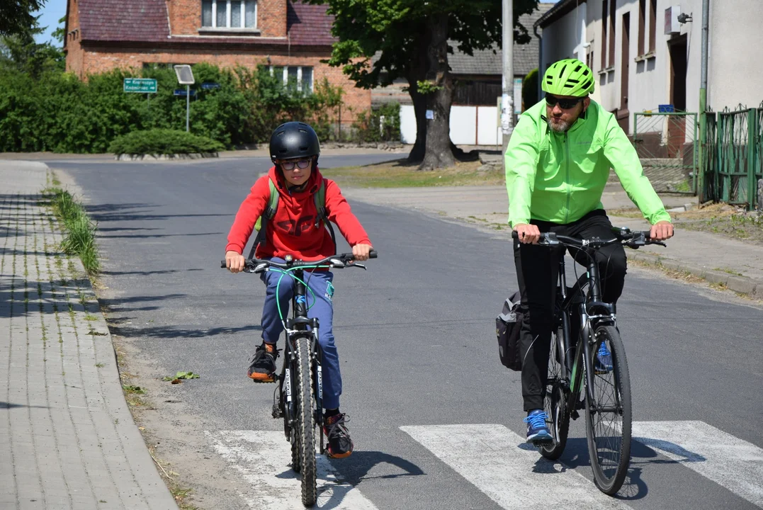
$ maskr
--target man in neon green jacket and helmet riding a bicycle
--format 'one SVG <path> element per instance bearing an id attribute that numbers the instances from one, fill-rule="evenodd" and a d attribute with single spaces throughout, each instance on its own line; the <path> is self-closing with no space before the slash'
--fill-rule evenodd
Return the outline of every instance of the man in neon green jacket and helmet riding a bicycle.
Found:
<path id="1" fill-rule="evenodd" d="M 613 168 L 631 200 L 652 224 L 650 236 L 673 236 L 652 184 L 643 175 L 636 150 L 613 114 L 591 101 L 594 73 L 577 59 L 553 63 L 543 76 L 546 97 L 524 112 L 506 151 L 509 223 L 517 232 L 514 261 L 526 320 L 520 332 L 522 396 L 527 441 L 547 444 L 552 436 L 543 412 L 549 363 L 553 302 L 559 256 L 538 246 L 541 232 L 591 238 L 611 237 L 601 195 Z M 571 255 L 575 256 L 576 253 Z M 581 258 L 581 263 L 585 261 Z M 617 303 L 623 292 L 626 256 L 620 244 L 597 252 L 602 293 Z M 611 370 L 606 346 L 597 352 L 597 369 Z"/>

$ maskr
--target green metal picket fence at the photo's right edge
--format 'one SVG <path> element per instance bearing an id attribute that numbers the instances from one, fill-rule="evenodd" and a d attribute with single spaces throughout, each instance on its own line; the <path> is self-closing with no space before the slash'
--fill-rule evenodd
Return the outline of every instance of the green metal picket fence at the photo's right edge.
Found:
<path id="1" fill-rule="evenodd" d="M 763 103 L 708 112 L 703 149 L 704 200 L 755 209 L 763 178 Z"/>

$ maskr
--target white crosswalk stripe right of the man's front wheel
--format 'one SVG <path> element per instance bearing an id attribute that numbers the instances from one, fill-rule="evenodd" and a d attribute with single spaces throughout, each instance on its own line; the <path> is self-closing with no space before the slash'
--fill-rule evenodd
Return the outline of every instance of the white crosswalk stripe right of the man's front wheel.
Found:
<path id="1" fill-rule="evenodd" d="M 633 440 L 763 507 L 763 449 L 705 422 L 634 422 Z"/>

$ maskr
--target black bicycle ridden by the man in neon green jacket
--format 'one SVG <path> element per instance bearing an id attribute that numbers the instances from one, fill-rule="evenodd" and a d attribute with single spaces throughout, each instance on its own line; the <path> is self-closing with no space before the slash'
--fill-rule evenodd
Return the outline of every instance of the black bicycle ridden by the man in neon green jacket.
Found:
<path id="1" fill-rule="evenodd" d="M 652 241 L 649 232 L 612 230 L 612 239 L 577 239 L 542 233 L 538 242 L 549 248 L 578 250 L 588 261 L 588 271 L 581 274 L 574 286 L 567 287 L 565 257 L 563 254 L 559 257 L 555 327 L 544 399 L 547 425 L 554 440 L 551 444 L 539 445 L 539 451 L 547 459 L 558 459 L 567 444 L 570 418 L 578 419 L 578 409 L 585 409 L 594 483 L 610 496 L 623 486 L 630 463 L 630 377 L 615 307 L 601 299 L 594 255 L 597 250 L 615 243 L 633 249 L 650 244 L 665 246 L 663 242 Z M 611 366 L 597 364 L 597 353 L 602 345 L 612 356 Z"/>

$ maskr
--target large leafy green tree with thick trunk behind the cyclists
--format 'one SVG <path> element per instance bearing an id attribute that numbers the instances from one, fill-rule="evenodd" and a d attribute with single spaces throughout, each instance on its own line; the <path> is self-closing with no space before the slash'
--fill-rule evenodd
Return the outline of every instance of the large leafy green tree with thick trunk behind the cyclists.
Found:
<path id="1" fill-rule="evenodd" d="M 453 163 L 449 123 L 455 82 L 450 75 L 451 44 L 472 55 L 501 42 L 501 0 L 308 0 L 328 4 L 334 16 L 332 66 L 363 88 L 408 82 L 417 133 L 410 161 L 430 169 Z M 517 23 L 537 0 L 514 0 L 514 38 L 530 39 Z M 449 44 L 450 43 L 450 44 Z M 427 111 L 432 111 L 427 119 Z"/>

